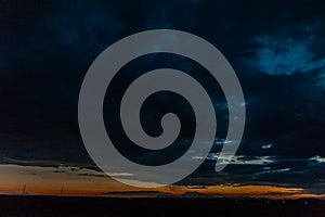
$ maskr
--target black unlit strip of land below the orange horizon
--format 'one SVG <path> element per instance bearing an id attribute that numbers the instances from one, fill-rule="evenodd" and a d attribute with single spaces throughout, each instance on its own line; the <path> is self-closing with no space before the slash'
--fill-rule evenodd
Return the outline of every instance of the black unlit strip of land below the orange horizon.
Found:
<path id="1" fill-rule="evenodd" d="M 0 216 L 325 216 L 321 200 L 0 196 Z"/>

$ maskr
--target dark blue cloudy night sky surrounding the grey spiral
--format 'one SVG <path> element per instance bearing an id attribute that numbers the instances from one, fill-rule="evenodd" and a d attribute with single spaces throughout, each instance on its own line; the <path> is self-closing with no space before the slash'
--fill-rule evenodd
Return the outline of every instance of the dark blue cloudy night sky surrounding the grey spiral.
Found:
<path id="1" fill-rule="evenodd" d="M 117 40 L 164 28 L 206 39 L 236 72 L 246 100 L 246 128 L 233 162 L 220 173 L 213 170 L 226 135 L 227 104 L 208 73 L 183 56 L 150 54 L 121 68 L 110 87 L 110 98 L 105 99 L 105 120 L 114 120 L 118 115 L 109 106 L 116 107 L 130 79 L 161 66 L 186 72 L 209 91 L 218 131 L 208 158 L 177 187 L 263 186 L 299 188 L 303 193 L 324 195 L 322 1 L 0 0 L 0 164 L 1 168 L 11 166 L 9 170 L 0 168 L 0 177 L 5 177 L 4 173 L 21 176 L 18 170 L 24 167 L 39 168 L 32 175 L 35 182 L 42 181 L 37 177 L 48 173 L 43 168 L 55 168 L 58 175 L 82 167 L 87 176 L 100 176 L 78 127 L 78 95 L 83 77 L 95 58 Z M 159 135 L 159 117 L 169 111 L 179 114 L 184 127 L 172 149 L 160 153 L 133 146 L 130 151 L 122 133 L 112 135 L 125 155 L 146 165 L 174 159 L 186 151 L 193 137 L 193 111 L 186 101 L 172 93 L 154 97 L 144 106 L 143 126 L 150 135 Z M 86 177 L 80 173 L 76 176 Z M 26 178 L 29 179 L 32 182 L 32 178 Z M 3 192 L 8 182 L 0 180 Z M 109 186 L 101 190 L 108 192 Z"/>

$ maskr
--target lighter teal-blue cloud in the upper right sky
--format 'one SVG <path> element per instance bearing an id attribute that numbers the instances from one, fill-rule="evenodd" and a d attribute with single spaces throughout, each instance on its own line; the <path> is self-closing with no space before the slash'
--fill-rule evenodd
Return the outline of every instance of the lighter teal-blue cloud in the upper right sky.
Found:
<path id="1" fill-rule="evenodd" d="M 269 75 L 294 75 L 317 71 L 325 66 L 325 58 L 317 58 L 312 48 L 317 46 L 320 27 L 314 23 L 296 26 L 283 34 L 260 35 L 253 38 L 250 65 Z M 302 38 L 296 36 L 299 31 Z"/>

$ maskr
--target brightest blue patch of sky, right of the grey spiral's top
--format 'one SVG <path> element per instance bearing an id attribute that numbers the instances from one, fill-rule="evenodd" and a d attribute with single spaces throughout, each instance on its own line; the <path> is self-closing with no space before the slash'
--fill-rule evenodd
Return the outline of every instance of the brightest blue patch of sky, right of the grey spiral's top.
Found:
<path id="1" fill-rule="evenodd" d="M 269 75 L 292 75 L 321 69 L 325 59 L 315 59 L 311 39 L 259 36 L 255 38 L 259 48 L 253 50 L 256 67 Z"/>

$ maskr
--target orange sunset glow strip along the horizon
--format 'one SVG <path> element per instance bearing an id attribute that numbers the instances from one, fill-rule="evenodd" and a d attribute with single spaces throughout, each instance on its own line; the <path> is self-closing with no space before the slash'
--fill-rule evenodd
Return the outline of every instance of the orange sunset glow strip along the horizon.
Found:
<path id="1" fill-rule="evenodd" d="M 0 165 L 0 193 L 38 195 L 92 195 L 92 196 L 155 196 L 156 194 L 182 195 L 200 193 L 212 196 L 252 196 L 269 199 L 322 197 L 324 195 L 309 194 L 300 188 L 284 188 L 272 186 L 209 186 L 187 187 L 169 186 L 159 189 L 133 188 L 117 182 L 109 177 L 100 176 L 99 171 L 68 167 Z M 129 193 L 128 193 L 129 192 Z M 135 193 L 134 193 L 135 192 Z M 136 194 L 139 192 L 139 194 Z"/>

